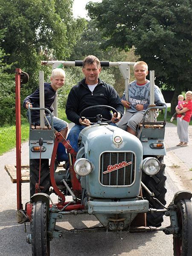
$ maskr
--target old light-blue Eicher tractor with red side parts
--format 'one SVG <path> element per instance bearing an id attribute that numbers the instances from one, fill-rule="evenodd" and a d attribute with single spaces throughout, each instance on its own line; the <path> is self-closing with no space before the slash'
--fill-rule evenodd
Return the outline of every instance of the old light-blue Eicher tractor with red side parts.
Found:
<path id="1" fill-rule="evenodd" d="M 42 61 L 41 64 L 54 68 L 61 64 L 81 66 L 82 61 Z M 101 61 L 102 66 L 119 67 L 125 79 L 127 96 L 130 66 L 133 64 Z M 150 80 L 153 81 L 153 78 Z M 153 95 L 153 84 L 150 95 Z M 109 106 L 96 107 L 116 112 Z M 154 111 L 157 109 L 164 109 L 165 116 L 162 121 L 154 122 Z M 39 110 L 43 115 L 47 111 L 43 105 Z M 45 175 L 45 183 L 41 184 L 40 180 L 38 188 L 41 190 L 43 187 L 42 191 L 36 190 L 25 210 L 19 205 L 17 212 L 19 223 L 31 221 L 31 234 L 27 236 L 27 241 L 32 244 L 33 256 L 49 255 L 50 241 L 64 235 L 63 230 L 55 229 L 56 221 L 67 214 L 77 215 L 76 218 L 79 214 L 94 215 L 102 224 L 102 227 L 95 228 L 96 231 L 162 230 L 167 235 L 173 235 L 174 256 L 191 255 L 192 193 L 177 192 L 172 202 L 165 206 L 163 157 L 166 154 L 166 113 L 166 105 L 156 107 L 151 96 L 150 107 L 145 111 L 137 137 L 110 125 L 110 120 L 104 121 L 99 116 L 95 124 L 87 126 L 79 134 L 78 152 L 60 133 L 54 132 L 52 124 L 47 129 L 44 129 L 44 124 L 40 128 L 30 125 L 30 172 L 32 176 L 34 173 L 37 175 L 30 177 L 30 186 L 34 187 L 38 182 L 40 168 Z M 85 115 L 86 109 L 81 112 L 81 116 Z M 59 144 L 66 148 L 68 154 L 67 166 L 61 171 L 58 171 L 62 161 L 58 158 Z M 52 188 L 49 189 L 49 186 Z M 52 203 L 52 192 L 58 195 L 58 203 Z M 66 195 L 71 196 L 71 201 L 65 201 Z M 163 215 L 170 218 L 169 227 L 160 227 Z M 70 232 L 78 231 L 82 232 L 77 229 Z M 88 232 L 89 228 L 83 231 Z"/>

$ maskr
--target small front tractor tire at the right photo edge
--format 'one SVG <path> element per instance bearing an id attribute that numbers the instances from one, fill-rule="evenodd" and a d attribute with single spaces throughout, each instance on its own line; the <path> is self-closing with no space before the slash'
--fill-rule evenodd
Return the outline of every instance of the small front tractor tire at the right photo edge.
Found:
<path id="1" fill-rule="evenodd" d="M 174 256 L 192 255 L 192 203 L 182 199 L 177 203 L 177 221 L 180 236 L 173 237 Z"/>

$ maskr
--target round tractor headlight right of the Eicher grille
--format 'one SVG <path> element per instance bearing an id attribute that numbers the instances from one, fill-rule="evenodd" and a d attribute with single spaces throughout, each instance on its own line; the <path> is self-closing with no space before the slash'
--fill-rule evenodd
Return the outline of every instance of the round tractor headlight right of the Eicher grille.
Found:
<path id="1" fill-rule="evenodd" d="M 147 175 L 155 175 L 160 170 L 160 162 L 154 157 L 146 157 L 142 169 Z"/>

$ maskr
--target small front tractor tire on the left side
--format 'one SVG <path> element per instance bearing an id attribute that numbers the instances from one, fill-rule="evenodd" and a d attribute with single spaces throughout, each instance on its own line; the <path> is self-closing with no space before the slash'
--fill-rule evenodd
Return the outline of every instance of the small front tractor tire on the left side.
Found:
<path id="1" fill-rule="evenodd" d="M 38 201 L 32 207 L 32 256 L 50 256 L 50 241 L 47 238 L 49 210 L 45 202 Z"/>

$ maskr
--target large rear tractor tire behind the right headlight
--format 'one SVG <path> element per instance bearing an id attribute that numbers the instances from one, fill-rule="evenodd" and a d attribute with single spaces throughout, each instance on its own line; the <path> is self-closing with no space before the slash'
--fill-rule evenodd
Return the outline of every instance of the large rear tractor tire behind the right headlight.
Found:
<path id="1" fill-rule="evenodd" d="M 163 156 L 159 156 L 156 158 L 160 161 L 160 171 L 151 177 L 149 175 L 146 175 L 143 172 L 142 182 L 145 184 L 145 186 L 148 187 L 148 189 L 151 192 L 154 192 L 155 198 L 157 198 L 163 205 L 166 205 L 166 199 L 165 199 L 165 195 L 167 192 L 165 187 L 165 182 L 167 179 L 167 177 L 165 176 L 166 165 L 163 162 Z M 149 208 L 163 209 L 163 206 L 161 206 L 156 201 L 150 198 L 150 195 L 145 191 L 145 189 L 143 189 L 142 192 L 143 192 L 143 198 L 149 201 Z M 153 214 L 147 213 L 147 216 L 146 216 L 147 226 L 160 227 L 161 223 L 163 222 L 163 215 L 164 215 L 163 212 L 154 212 Z"/>

